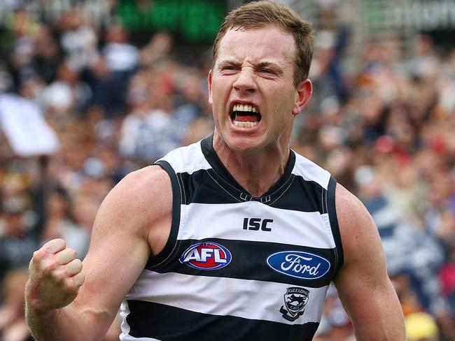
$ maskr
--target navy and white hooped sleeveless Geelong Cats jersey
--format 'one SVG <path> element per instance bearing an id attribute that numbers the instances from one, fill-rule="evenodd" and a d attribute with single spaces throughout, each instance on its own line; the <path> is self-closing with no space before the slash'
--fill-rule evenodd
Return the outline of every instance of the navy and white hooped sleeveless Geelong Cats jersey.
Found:
<path id="1" fill-rule="evenodd" d="M 343 263 L 336 181 L 290 150 L 279 181 L 251 196 L 212 140 L 156 162 L 171 233 L 123 300 L 120 340 L 311 340 Z"/>

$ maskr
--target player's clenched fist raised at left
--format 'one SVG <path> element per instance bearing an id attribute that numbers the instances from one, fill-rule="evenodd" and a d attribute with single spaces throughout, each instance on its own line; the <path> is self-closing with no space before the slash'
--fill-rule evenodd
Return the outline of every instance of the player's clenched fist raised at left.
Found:
<path id="1" fill-rule="evenodd" d="M 34 252 L 30 261 L 27 306 L 45 313 L 69 305 L 84 279 L 76 251 L 66 247 L 62 239 L 50 240 Z"/>

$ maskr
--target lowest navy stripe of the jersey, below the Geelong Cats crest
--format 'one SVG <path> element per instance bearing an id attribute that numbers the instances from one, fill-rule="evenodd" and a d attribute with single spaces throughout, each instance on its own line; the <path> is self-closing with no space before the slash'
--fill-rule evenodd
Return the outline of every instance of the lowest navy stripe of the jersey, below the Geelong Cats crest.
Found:
<path id="1" fill-rule="evenodd" d="M 238 317 L 218 317 L 188 310 L 127 301 L 132 314 L 127 317 L 132 336 L 127 340 L 299 340 L 310 341 L 317 323 L 285 325 L 269 321 L 245 320 Z M 151 314 L 150 311 L 156 312 Z M 145 337 L 151 339 L 144 339 Z"/>

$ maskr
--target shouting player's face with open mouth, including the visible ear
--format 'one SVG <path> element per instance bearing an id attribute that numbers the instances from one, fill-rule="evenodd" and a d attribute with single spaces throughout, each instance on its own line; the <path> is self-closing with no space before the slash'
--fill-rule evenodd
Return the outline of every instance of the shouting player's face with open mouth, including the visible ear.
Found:
<path id="1" fill-rule="evenodd" d="M 230 150 L 258 151 L 288 144 L 295 115 L 311 96 L 311 82 L 294 86 L 295 42 L 276 27 L 230 29 L 209 73 L 216 136 Z"/>

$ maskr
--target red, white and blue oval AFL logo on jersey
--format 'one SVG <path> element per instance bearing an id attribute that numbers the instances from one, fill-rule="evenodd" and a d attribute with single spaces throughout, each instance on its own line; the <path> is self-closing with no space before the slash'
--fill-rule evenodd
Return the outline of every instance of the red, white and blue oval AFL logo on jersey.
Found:
<path id="1" fill-rule="evenodd" d="M 200 270 L 218 270 L 227 266 L 231 260 L 229 250 L 216 242 L 191 245 L 179 259 L 182 264 Z"/>

